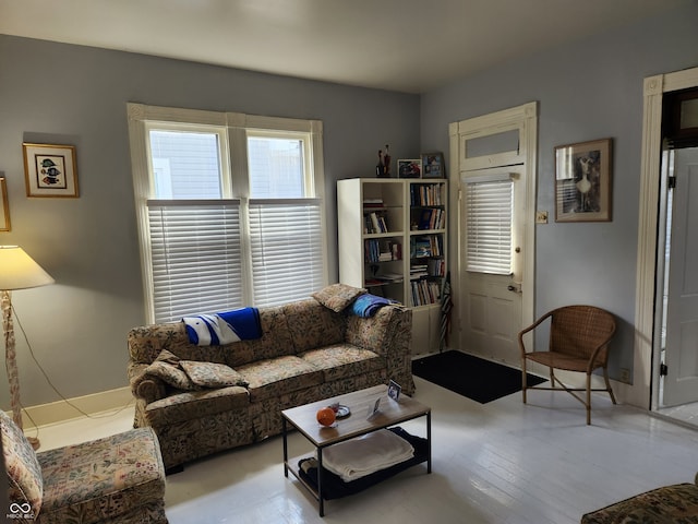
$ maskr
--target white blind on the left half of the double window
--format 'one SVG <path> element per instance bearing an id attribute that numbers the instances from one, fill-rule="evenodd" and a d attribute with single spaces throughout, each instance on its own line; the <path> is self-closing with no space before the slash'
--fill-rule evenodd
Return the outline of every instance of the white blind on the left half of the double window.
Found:
<path id="1" fill-rule="evenodd" d="M 243 306 L 239 201 L 147 207 L 155 322 Z"/>

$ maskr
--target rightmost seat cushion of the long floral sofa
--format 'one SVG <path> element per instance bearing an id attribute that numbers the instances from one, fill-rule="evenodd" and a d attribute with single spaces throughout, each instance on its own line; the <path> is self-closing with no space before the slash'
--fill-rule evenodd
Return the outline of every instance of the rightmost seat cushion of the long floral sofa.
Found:
<path id="1" fill-rule="evenodd" d="M 373 352 L 349 344 L 311 349 L 299 357 L 314 368 L 322 369 L 325 382 L 385 368 L 385 359 Z"/>

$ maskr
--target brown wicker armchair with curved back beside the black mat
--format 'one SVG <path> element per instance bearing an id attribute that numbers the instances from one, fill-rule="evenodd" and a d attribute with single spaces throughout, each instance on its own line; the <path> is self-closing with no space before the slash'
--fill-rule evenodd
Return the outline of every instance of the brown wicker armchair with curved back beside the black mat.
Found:
<path id="1" fill-rule="evenodd" d="M 527 352 L 524 344 L 524 335 L 534 330 L 550 319 L 550 343 L 546 352 Z M 609 342 L 615 333 L 615 318 L 609 311 L 593 306 L 565 306 L 554 309 L 533 324 L 519 333 L 519 348 L 521 350 L 521 380 L 524 404 L 526 404 L 526 390 L 557 390 L 566 391 L 581 402 L 587 408 L 587 425 L 591 424 L 591 392 L 606 391 L 611 401 L 615 404 L 615 396 L 609 381 Z M 550 386 L 529 388 L 526 383 L 526 365 L 528 361 L 538 362 L 550 368 Z M 591 388 L 591 373 L 603 369 L 605 389 Z M 568 388 L 563 384 L 554 370 L 577 371 L 587 373 L 586 388 Z M 562 386 L 562 390 L 555 386 Z M 586 392 L 581 397 L 575 392 Z"/>

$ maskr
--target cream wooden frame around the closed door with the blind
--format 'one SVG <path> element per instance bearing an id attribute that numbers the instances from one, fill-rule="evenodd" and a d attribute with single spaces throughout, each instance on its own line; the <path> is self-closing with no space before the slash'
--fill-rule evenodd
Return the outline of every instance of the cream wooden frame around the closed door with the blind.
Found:
<path id="1" fill-rule="evenodd" d="M 504 109 L 502 111 L 469 118 L 448 126 L 450 139 L 450 196 L 449 209 L 458 210 L 450 213 L 449 245 L 456 249 L 449 250 L 449 267 L 452 271 L 452 289 L 460 291 L 460 274 L 465 261 L 460 258 L 460 167 L 461 155 L 467 153 L 466 147 L 461 147 L 461 140 L 474 139 L 478 136 L 496 134 L 500 132 L 517 129 L 519 131 L 519 148 L 515 154 L 502 153 L 489 157 L 481 157 L 479 167 L 505 166 L 507 164 L 520 164 L 526 177 L 526 199 L 525 199 L 525 225 L 524 225 L 524 271 L 521 286 L 521 325 L 529 325 L 533 322 L 535 306 L 535 196 L 538 188 L 538 102 L 531 102 L 521 106 Z M 458 152 L 458 154 L 454 154 Z M 474 169 L 478 164 L 472 164 L 469 169 Z M 455 260 L 454 260 L 455 259 Z M 464 308 L 460 307 L 464 297 L 456 296 L 454 300 L 453 318 L 457 319 L 454 325 L 460 325 Z M 461 348 L 460 330 L 452 333 L 452 346 Z"/>

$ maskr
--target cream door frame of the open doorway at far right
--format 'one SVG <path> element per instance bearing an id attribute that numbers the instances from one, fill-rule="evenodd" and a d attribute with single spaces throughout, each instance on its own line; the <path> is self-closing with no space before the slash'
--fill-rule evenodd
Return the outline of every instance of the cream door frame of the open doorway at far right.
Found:
<path id="1" fill-rule="evenodd" d="M 698 87 L 698 68 L 645 79 L 642 118 L 642 162 L 640 166 L 640 205 L 635 296 L 635 337 L 633 344 L 633 384 L 616 384 L 618 397 L 628 404 L 655 410 L 659 406 L 660 352 L 653 335 L 655 279 L 658 272 L 658 225 L 662 217 L 660 177 L 662 160 L 662 102 L 664 93 Z"/>

